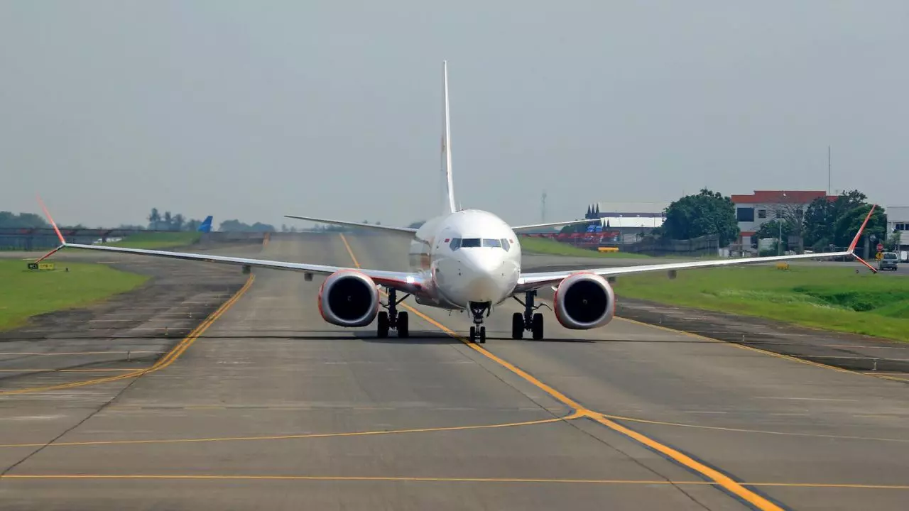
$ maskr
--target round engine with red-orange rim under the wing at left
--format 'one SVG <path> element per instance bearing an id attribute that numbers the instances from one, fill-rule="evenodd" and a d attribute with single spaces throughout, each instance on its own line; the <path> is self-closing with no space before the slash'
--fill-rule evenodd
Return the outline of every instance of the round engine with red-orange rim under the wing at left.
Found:
<path id="1" fill-rule="evenodd" d="M 379 289 L 360 272 L 335 272 L 319 288 L 319 314 L 332 325 L 366 326 L 378 312 Z"/>

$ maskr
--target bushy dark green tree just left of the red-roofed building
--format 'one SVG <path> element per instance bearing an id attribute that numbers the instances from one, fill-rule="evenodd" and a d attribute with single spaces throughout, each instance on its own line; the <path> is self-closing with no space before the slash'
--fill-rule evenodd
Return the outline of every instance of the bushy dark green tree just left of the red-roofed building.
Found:
<path id="1" fill-rule="evenodd" d="M 729 245 L 739 235 L 735 205 L 731 198 L 706 188 L 685 195 L 666 208 L 662 235 L 670 239 L 717 235 L 720 246 Z"/>

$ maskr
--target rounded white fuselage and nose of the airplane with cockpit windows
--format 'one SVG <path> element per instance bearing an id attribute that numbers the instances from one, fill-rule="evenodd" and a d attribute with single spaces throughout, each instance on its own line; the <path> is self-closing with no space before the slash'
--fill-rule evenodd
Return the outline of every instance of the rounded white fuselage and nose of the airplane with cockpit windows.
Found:
<path id="1" fill-rule="evenodd" d="M 427 221 L 410 245 L 410 264 L 430 283 L 417 301 L 446 308 L 496 305 L 512 296 L 521 275 L 521 245 L 492 213 L 457 211 Z"/>

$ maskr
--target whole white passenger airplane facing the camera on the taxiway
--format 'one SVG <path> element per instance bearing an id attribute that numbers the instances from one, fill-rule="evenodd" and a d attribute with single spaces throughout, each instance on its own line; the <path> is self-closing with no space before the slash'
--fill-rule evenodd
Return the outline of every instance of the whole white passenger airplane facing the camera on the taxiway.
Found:
<path id="1" fill-rule="evenodd" d="M 512 315 L 512 338 L 521 339 L 524 332 L 530 331 L 534 339 L 542 339 L 544 316 L 535 312 L 540 306 L 534 305 L 534 296 L 536 296 L 537 290 L 547 286 L 552 287 L 555 291 L 553 298 L 555 319 L 565 328 L 590 329 L 604 326 L 614 317 L 615 295 L 609 283 L 609 278 L 614 276 L 662 271 L 667 272 L 672 278 L 678 270 L 843 256 L 852 256 L 874 271 L 873 266 L 854 253 L 859 237 L 874 213 L 875 206 L 873 205 L 855 235 L 852 245 L 842 252 L 524 272 L 521 269 L 521 244 L 517 233 L 550 225 L 590 223 L 591 220 L 513 226 L 508 225 L 493 213 L 456 207 L 452 178 L 447 62 L 443 63 L 442 120 L 441 177 L 444 182 L 446 200 L 441 215 L 426 221 L 419 228 L 358 224 L 344 220 L 287 215 L 291 218 L 320 223 L 350 225 L 361 229 L 375 229 L 394 235 L 405 235 L 411 239 L 408 255 L 411 264 L 410 271 L 386 271 L 227 255 L 72 244 L 67 243 L 64 236 L 60 234 L 60 230 L 57 229 L 54 219 L 44 203 L 41 203 L 41 206 L 51 225 L 54 225 L 61 245 L 42 259 L 62 248 L 80 248 L 244 266 L 245 269 L 257 267 L 288 270 L 302 272 L 307 279 L 312 279 L 314 274 L 325 275 L 325 281 L 319 288 L 316 300 L 321 316 L 330 324 L 363 327 L 375 322 L 379 337 L 388 336 L 389 330 L 395 330 L 399 337 L 407 337 L 410 335 L 408 315 L 406 311 L 399 312 L 397 306 L 408 296 L 413 296 L 415 302 L 420 305 L 469 312 L 474 323 L 474 326 L 470 326 L 470 342 L 479 344 L 486 341 L 484 317 L 491 314 L 493 306 L 508 299 L 514 299 L 524 306 L 524 313 L 515 312 Z M 385 288 L 387 296 L 385 303 L 380 298 L 380 287 Z M 404 296 L 399 298 L 398 293 L 402 293 Z M 380 311 L 380 307 L 385 310 Z"/>

